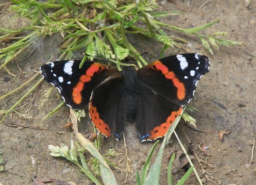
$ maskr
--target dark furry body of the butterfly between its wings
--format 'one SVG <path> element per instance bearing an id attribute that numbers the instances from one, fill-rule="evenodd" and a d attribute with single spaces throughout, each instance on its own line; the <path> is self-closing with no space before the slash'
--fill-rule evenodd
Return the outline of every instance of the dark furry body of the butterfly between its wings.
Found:
<path id="1" fill-rule="evenodd" d="M 133 122 L 139 100 L 137 71 L 134 67 L 125 67 L 122 75 L 124 78 L 125 115 L 128 121 Z"/>

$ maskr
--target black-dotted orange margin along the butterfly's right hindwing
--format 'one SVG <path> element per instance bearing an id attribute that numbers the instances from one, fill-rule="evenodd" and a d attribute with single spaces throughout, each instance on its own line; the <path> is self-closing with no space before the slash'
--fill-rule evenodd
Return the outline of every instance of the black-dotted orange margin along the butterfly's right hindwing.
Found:
<path id="1" fill-rule="evenodd" d="M 183 109 L 180 107 L 178 111 L 171 112 L 165 123 L 160 124 L 160 126 L 156 126 L 152 131 L 150 131 L 150 137 L 148 137 L 148 139 L 155 140 L 157 138 L 164 137 L 165 133 L 175 121 L 177 116 L 181 115 L 182 110 Z"/>

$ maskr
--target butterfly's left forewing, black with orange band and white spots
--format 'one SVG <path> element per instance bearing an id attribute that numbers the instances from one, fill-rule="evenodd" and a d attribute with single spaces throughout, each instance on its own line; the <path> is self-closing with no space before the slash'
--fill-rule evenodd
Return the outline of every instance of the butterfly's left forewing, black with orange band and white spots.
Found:
<path id="1" fill-rule="evenodd" d="M 55 61 L 44 64 L 40 71 L 45 81 L 54 85 L 66 104 L 80 109 L 88 104 L 93 88 L 118 70 L 97 62 Z"/>

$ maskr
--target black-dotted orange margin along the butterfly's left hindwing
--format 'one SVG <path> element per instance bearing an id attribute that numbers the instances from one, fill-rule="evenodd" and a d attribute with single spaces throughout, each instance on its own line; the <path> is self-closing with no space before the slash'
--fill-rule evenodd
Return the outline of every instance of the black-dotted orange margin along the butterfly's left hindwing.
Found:
<path id="1" fill-rule="evenodd" d="M 97 128 L 101 134 L 104 134 L 106 137 L 110 137 L 111 136 L 110 127 L 101 118 L 99 118 L 99 113 L 97 112 L 97 108 L 92 106 L 92 102 L 89 102 L 89 114 L 95 128 Z"/>

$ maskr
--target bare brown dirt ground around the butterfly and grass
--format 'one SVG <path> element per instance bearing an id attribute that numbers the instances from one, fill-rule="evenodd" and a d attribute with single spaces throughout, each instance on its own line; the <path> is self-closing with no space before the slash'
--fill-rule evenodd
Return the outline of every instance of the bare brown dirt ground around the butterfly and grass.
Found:
<path id="1" fill-rule="evenodd" d="M 252 143 L 255 138 L 255 102 L 256 102 L 256 82 L 255 82 L 255 62 L 256 59 L 249 52 L 256 55 L 256 2 L 246 7 L 245 0 L 215 0 L 208 1 L 204 6 L 200 6 L 205 1 L 191 0 L 176 1 L 177 3 L 166 2 L 164 7 L 167 10 L 185 11 L 184 15 L 171 16 L 162 21 L 189 28 L 199 26 L 215 19 L 220 22 L 210 29 L 204 31 L 211 34 L 216 31 L 228 31 L 230 40 L 244 41 L 242 47 L 220 46 L 219 51 L 214 51 L 214 55 L 209 54 L 200 44 L 200 40 L 191 35 L 181 34 L 175 31 L 167 31 L 169 35 L 180 36 L 190 43 L 183 45 L 190 49 L 190 52 L 200 52 L 208 55 L 211 59 L 210 72 L 206 74 L 198 84 L 194 99 L 190 102 L 199 111 L 192 112 L 191 115 L 197 119 L 197 126 L 200 132 L 184 126 L 184 131 L 179 127 L 176 129 L 181 141 L 188 149 L 188 153 L 193 156 L 193 164 L 199 172 L 205 184 L 212 185 L 255 185 L 256 183 L 256 160 L 255 149 L 252 164 Z M 199 10 L 200 8 L 200 10 Z M 160 10 L 165 10 L 160 8 Z M 26 24 L 26 20 L 10 20 L 12 14 L 0 13 L 0 27 L 17 28 Z M 24 22 L 23 22 L 24 21 Z M 148 61 L 153 61 L 160 57 L 160 44 L 153 40 L 145 39 L 143 36 L 131 37 L 131 42 L 138 50 L 146 50 L 144 55 Z M 37 39 L 33 46 L 28 48 L 23 54 L 18 55 L 14 61 L 7 65 L 9 71 L 16 76 L 10 76 L 5 70 L 0 71 L 0 95 L 17 88 L 27 81 L 38 71 L 39 66 L 47 62 L 52 56 L 57 59 L 57 48 L 59 47 L 60 36 L 54 35 L 45 39 Z M 5 47 L 4 44 L 0 43 Z M 246 51 L 247 50 L 247 51 Z M 30 53 L 32 54 L 23 60 Z M 183 50 L 170 49 L 165 54 L 184 53 Z M 80 59 L 81 53 L 74 56 Z M 17 64 L 23 73 L 17 69 Z M 34 82 L 38 81 L 35 80 Z M 0 109 L 8 110 L 24 93 L 32 86 L 32 83 L 14 95 L 0 100 Z M 54 116 L 42 121 L 52 109 L 54 109 L 61 99 L 57 96 L 57 90 L 51 93 L 49 102 L 39 107 L 42 96 L 51 85 L 43 83 L 42 86 L 32 92 L 19 106 L 24 105 L 35 95 L 31 105 L 29 115 L 31 118 L 17 118 L 17 114 L 12 113 L 5 119 L 7 123 L 26 124 L 44 128 L 44 130 L 34 130 L 18 128 L 0 124 L 0 150 L 3 152 L 5 161 L 5 172 L 0 173 L 0 185 L 30 185 L 33 184 L 31 178 L 35 174 L 38 178 L 55 178 L 64 182 L 75 182 L 78 185 L 92 184 L 83 175 L 77 166 L 63 158 L 56 158 L 49 155 L 47 145 L 60 145 L 64 143 L 70 146 L 70 140 L 76 140 L 72 130 L 62 128 L 68 121 L 69 108 L 62 107 Z M 29 106 L 18 109 L 25 112 Z M 10 118 L 12 116 L 12 118 Z M 85 134 L 92 131 L 92 124 L 89 123 L 89 116 L 82 119 L 79 124 L 80 133 Z M 181 124 L 181 123 L 180 123 Z M 223 141 L 219 140 L 218 131 L 231 131 L 229 135 L 224 135 Z M 187 138 L 192 142 L 189 144 Z M 141 172 L 142 166 L 152 146 L 151 142 L 141 143 L 136 136 L 134 126 L 127 124 L 125 130 L 127 152 L 130 159 L 129 167 L 131 173 L 127 178 L 127 184 L 136 184 L 136 171 Z M 204 154 L 198 147 L 199 143 L 205 143 L 207 153 Z M 192 152 L 194 148 L 197 157 L 200 159 L 202 168 Z M 159 148 L 159 146 L 158 146 Z M 123 159 L 125 155 L 124 140 L 116 142 L 114 138 L 103 139 L 101 142 L 101 154 L 108 149 L 114 149 L 119 155 L 111 160 L 118 164 L 120 169 L 113 169 L 118 185 L 125 181 L 126 163 Z M 175 150 L 181 150 L 178 141 L 172 136 L 171 143 L 165 148 L 162 161 L 162 172 L 160 184 L 167 184 L 167 164 L 170 154 Z M 90 159 L 89 154 L 85 156 Z M 122 161 L 120 161 L 123 159 Z M 8 170 L 9 169 L 9 170 Z M 177 181 L 185 173 L 181 170 L 174 175 Z M 186 184 L 197 185 L 195 175 L 190 176 Z"/>

